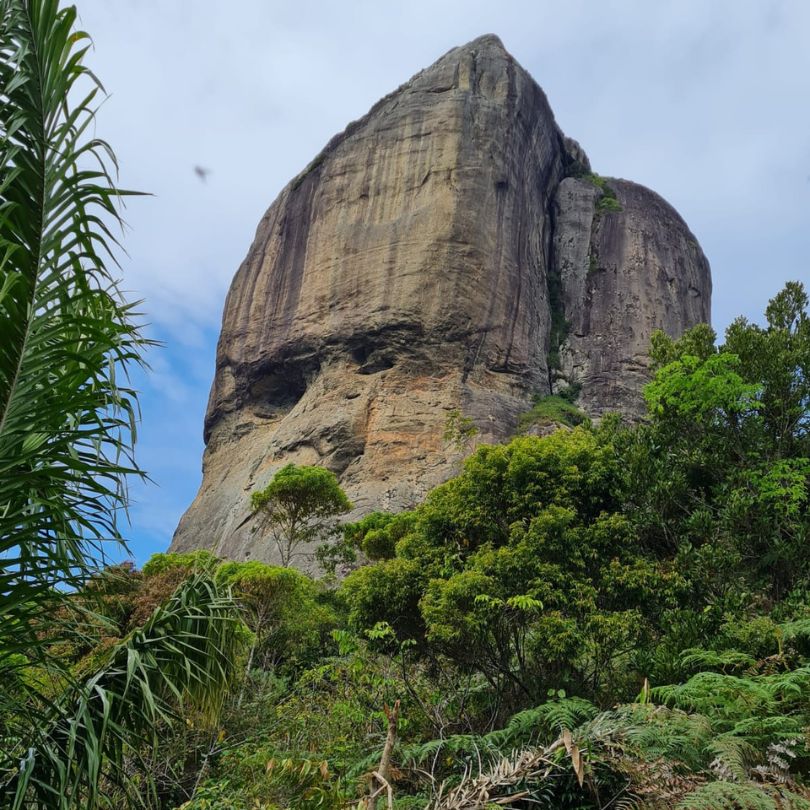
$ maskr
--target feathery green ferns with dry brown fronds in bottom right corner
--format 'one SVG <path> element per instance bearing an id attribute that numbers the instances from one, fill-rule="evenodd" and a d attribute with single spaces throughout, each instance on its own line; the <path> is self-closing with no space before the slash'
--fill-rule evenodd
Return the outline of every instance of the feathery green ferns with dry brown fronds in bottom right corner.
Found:
<path id="1" fill-rule="evenodd" d="M 710 660 L 718 666 L 747 663 L 737 653 L 693 650 L 684 656 L 692 664 Z M 663 702 L 649 702 L 649 697 Z M 469 784 L 472 774 L 483 774 L 486 762 L 499 771 L 507 762 L 517 763 L 530 752 L 539 755 L 543 745 L 550 745 L 555 755 L 549 757 L 551 749 L 546 748 L 541 756 L 550 769 L 543 770 L 532 789 L 542 784 L 556 802 L 549 806 L 559 806 L 560 791 L 582 790 L 576 782 L 563 785 L 568 778 L 565 757 L 558 757 L 565 752 L 552 741 L 567 739 L 572 762 L 576 758 L 581 763 L 577 774 L 586 774 L 592 787 L 594 780 L 606 779 L 614 798 L 621 796 L 629 805 L 636 798 L 655 798 L 663 779 L 669 806 L 682 810 L 810 810 L 790 774 L 810 747 L 804 739 L 809 714 L 808 667 L 745 676 L 703 671 L 682 684 L 645 690 L 643 702 L 603 712 L 581 698 L 549 701 L 483 736 L 456 735 L 411 746 L 400 761 L 417 768 L 431 759 L 440 763 L 446 784 L 456 785 L 452 790 L 457 791 Z"/>

